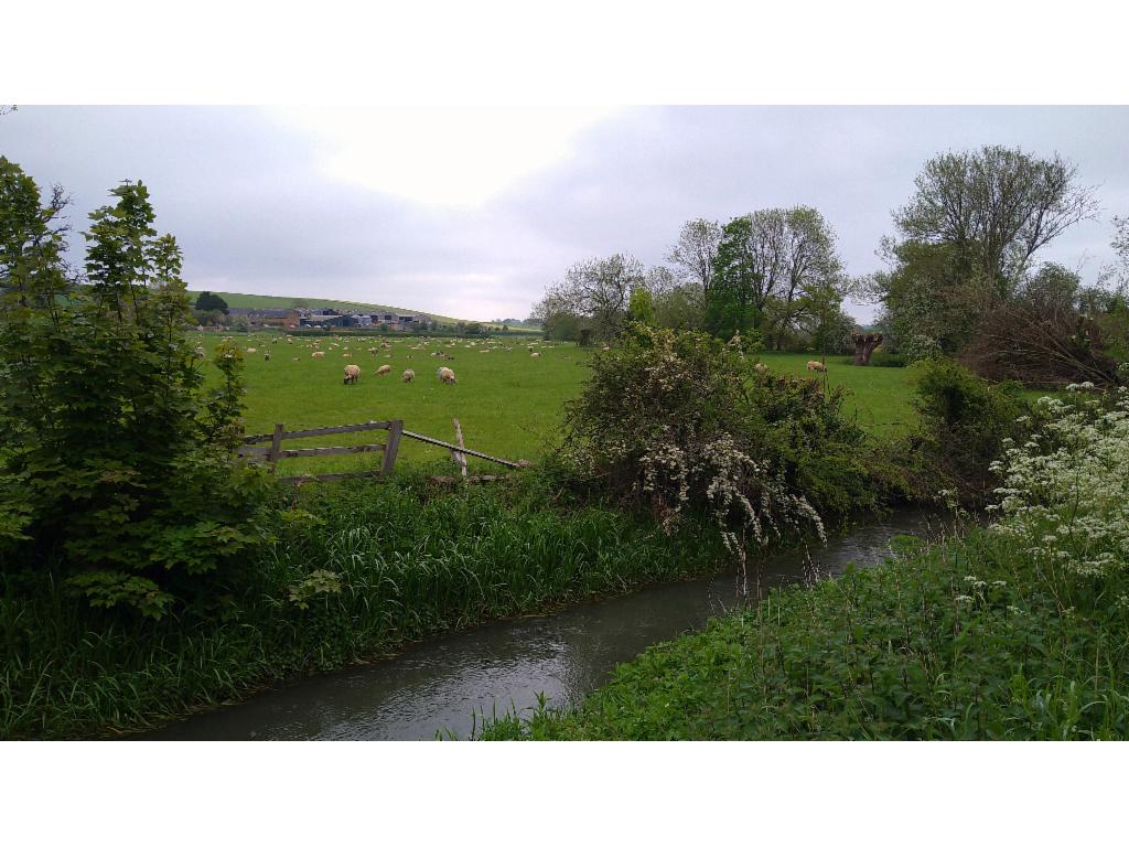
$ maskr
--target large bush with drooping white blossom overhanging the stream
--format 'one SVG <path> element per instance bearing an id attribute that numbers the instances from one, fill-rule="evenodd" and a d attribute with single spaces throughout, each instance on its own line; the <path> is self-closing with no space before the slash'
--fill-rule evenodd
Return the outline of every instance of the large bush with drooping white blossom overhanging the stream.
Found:
<path id="1" fill-rule="evenodd" d="M 861 430 L 841 394 L 754 368 L 742 338 L 636 324 L 593 359 L 568 410 L 575 479 L 645 505 L 667 532 L 691 513 L 717 527 L 747 591 L 749 551 L 825 538 L 821 512 L 866 505 Z M 760 570 L 756 570 L 758 592 Z"/>

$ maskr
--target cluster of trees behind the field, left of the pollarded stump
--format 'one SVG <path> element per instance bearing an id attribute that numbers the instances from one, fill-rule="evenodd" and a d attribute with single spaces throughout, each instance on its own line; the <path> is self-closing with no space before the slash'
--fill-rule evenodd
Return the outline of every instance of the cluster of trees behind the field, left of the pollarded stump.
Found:
<path id="1" fill-rule="evenodd" d="M 533 318 L 562 340 L 606 341 L 642 321 L 826 351 L 848 343 L 855 329 L 842 311 L 851 280 L 834 230 L 811 207 L 762 209 L 725 225 L 686 221 L 667 262 L 648 269 L 618 254 L 575 264 Z"/>

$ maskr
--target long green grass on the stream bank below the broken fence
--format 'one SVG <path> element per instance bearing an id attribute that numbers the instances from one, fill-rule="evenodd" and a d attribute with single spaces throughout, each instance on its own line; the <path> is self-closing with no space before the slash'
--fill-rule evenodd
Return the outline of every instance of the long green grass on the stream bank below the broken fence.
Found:
<path id="1" fill-rule="evenodd" d="M 717 567 L 716 543 L 536 484 L 438 490 L 418 475 L 296 495 L 233 594 L 160 622 L 81 612 L 0 576 L 0 737 L 113 735 L 296 673 L 480 621 Z"/>

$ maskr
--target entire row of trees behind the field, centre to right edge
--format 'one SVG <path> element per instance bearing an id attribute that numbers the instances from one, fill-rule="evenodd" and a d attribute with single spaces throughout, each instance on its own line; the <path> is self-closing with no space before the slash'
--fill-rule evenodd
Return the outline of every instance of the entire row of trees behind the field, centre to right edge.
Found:
<path id="1" fill-rule="evenodd" d="M 761 209 L 726 224 L 685 222 L 665 265 L 627 254 L 575 264 L 533 317 L 551 338 L 580 342 L 607 341 L 642 321 L 833 353 L 866 338 L 843 311 L 852 296 L 879 307 L 873 343 L 905 359 L 948 355 L 986 376 L 1025 382 L 1110 381 L 1129 358 L 1129 222 L 1114 218 L 1117 262 L 1096 286 L 1040 261 L 1097 211 L 1095 189 L 1058 154 L 946 152 L 924 165 L 893 211 L 878 273 L 847 273 L 817 209 Z"/>

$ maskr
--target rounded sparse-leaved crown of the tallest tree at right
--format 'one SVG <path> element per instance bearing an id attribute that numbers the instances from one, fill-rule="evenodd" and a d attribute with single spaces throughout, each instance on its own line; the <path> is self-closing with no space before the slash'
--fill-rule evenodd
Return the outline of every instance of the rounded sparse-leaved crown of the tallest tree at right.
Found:
<path id="1" fill-rule="evenodd" d="M 1058 154 L 1039 158 L 999 146 L 946 152 L 925 164 L 914 185 L 894 212 L 902 237 L 966 253 L 1000 299 L 1015 290 L 1035 252 L 1096 212 L 1093 189 L 1080 185 L 1077 167 Z"/>

